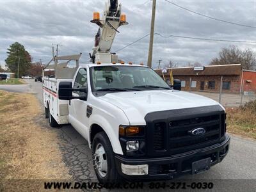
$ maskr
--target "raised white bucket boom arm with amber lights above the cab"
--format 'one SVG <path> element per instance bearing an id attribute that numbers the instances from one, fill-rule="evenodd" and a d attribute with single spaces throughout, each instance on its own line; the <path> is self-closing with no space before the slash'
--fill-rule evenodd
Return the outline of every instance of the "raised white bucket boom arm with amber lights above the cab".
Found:
<path id="1" fill-rule="evenodd" d="M 97 35 L 95 36 L 95 45 L 93 52 L 90 54 L 92 63 L 112 63 L 117 62 L 117 56 L 111 54 L 111 47 L 115 39 L 118 28 L 127 25 L 125 15 L 122 15 L 122 5 L 118 4 L 118 0 L 109 0 L 106 3 L 103 18 L 100 20 L 98 12 L 93 13 L 92 23 L 99 26 Z"/>

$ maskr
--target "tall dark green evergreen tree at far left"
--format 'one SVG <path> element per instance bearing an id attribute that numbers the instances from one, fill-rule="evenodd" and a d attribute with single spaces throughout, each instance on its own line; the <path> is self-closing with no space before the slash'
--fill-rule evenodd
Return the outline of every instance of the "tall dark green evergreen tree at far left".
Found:
<path id="1" fill-rule="evenodd" d="M 31 56 L 29 52 L 18 42 L 10 45 L 7 50 L 6 66 L 11 72 L 14 72 L 18 76 L 19 65 L 19 77 L 26 75 L 31 66 Z"/>

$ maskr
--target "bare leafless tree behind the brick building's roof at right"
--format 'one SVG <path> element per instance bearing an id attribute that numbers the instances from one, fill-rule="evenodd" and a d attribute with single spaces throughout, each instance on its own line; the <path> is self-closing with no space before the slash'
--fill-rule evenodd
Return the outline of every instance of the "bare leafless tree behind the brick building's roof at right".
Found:
<path id="1" fill-rule="evenodd" d="M 241 64 L 243 69 L 253 70 L 256 67 L 255 52 L 251 49 L 242 51 L 235 45 L 222 48 L 218 58 L 213 58 L 210 65 Z"/>

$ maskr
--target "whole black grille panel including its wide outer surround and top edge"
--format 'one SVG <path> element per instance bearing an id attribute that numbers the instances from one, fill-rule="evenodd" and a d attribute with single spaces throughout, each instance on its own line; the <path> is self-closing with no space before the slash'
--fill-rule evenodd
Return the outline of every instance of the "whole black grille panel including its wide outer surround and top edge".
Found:
<path id="1" fill-rule="evenodd" d="M 225 111 L 220 105 L 156 111 L 148 113 L 145 121 L 149 157 L 209 147 L 225 136 Z M 195 131 L 196 128 L 204 128 L 205 132 L 203 129 Z"/>

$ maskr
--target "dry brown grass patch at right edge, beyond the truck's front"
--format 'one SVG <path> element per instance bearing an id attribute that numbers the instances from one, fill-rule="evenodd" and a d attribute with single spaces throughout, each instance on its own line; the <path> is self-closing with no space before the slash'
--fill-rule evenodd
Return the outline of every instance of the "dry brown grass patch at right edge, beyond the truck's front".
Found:
<path id="1" fill-rule="evenodd" d="M 256 100 L 227 109 L 228 132 L 256 139 Z"/>

